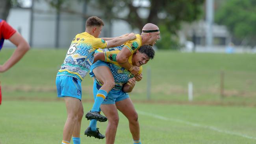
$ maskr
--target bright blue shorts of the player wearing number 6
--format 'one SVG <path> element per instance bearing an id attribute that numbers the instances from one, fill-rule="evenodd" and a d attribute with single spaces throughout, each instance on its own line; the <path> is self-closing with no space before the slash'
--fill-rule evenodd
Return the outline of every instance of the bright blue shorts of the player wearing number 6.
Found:
<path id="1" fill-rule="evenodd" d="M 56 86 L 58 97 L 70 96 L 81 101 L 82 87 L 78 79 L 71 76 L 57 76 Z"/>

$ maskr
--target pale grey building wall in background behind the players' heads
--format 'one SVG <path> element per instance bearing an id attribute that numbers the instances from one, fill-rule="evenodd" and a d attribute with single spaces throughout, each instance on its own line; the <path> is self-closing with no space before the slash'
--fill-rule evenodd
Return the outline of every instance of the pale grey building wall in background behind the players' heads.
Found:
<path id="1" fill-rule="evenodd" d="M 118 37 L 130 32 L 141 33 L 140 30 L 132 30 L 129 24 L 123 20 L 112 20 L 111 23 L 108 23 L 104 19 L 104 13 L 92 6 L 85 6 L 81 1 L 70 1 L 68 6 L 72 11 L 102 18 L 105 25 L 100 37 Z M 16 30 L 20 30 L 26 41 L 32 44 L 32 48 L 54 48 L 57 41 L 56 9 L 50 7 L 45 1 L 34 1 L 33 27 L 30 26 L 31 19 L 31 9 L 13 8 L 10 10 L 7 22 Z M 86 19 L 80 14 L 61 12 L 58 26 L 59 48 L 68 48 L 75 35 L 85 31 Z M 31 31 L 32 39 L 30 39 Z M 14 47 L 14 45 L 5 41 L 4 47 Z"/>

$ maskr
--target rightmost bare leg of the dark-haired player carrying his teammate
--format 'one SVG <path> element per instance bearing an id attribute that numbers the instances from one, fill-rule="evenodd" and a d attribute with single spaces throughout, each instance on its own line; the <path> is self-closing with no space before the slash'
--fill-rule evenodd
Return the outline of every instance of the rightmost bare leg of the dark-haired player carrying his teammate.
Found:
<path id="1" fill-rule="evenodd" d="M 132 100 L 127 98 L 116 103 L 117 109 L 126 116 L 129 121 L 130 132 L 134 140 L 139 140 L 139 121 Z"/>

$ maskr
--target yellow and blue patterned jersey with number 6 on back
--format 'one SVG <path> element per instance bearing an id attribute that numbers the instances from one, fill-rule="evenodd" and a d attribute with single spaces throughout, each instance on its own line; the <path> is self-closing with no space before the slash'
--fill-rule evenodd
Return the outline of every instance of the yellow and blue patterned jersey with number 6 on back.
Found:
<path id="1" fill-rule="evenodd" d="M 92 65 L 95 50 L 106 46 L 106 41 L 87 32 L 77 34 L 57 76 L 72 76 L 82 81 Z"/>

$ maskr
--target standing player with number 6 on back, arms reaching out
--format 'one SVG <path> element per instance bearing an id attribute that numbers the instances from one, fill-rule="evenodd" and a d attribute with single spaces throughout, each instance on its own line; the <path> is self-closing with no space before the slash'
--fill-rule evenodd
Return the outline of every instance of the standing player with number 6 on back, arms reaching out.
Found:
<path id="1" fill-rule="evenodd" d="M 117 38 L 98 38 L 104 22 L 98 17 L 89 17 L 85 32 L 72 40 L 65 60 L 56 77 L 58 97 L 64 97 L 67 108 L 67 120 L 63 129 L 63 144 L 69 144 L 73 136 L 74 144 L 80 144 L 80 128 L 83 116 L 81 81 L 93 62 L 94 51 L 109 48 L 135 39 L 135 34 Z"/>

